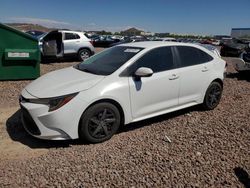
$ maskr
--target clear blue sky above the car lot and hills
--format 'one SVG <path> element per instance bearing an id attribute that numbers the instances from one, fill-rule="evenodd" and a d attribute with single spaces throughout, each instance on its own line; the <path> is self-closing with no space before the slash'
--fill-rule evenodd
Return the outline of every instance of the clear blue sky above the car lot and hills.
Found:
<path id="1" fill-rule="evenodd" d="M 250 0 L 2 0 L 0 22 L 47 27 L 230 35 L 250 28 Z"/>

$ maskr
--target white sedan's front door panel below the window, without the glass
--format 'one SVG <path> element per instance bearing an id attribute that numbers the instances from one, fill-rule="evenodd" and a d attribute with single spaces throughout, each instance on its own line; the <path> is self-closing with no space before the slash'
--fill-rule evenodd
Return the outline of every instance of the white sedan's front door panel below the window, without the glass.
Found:
<path id="1" fill-rule="evenodd" d="M 151 77 L 141 78 L 141 81 L 129 77 L 134 119 L 178 105 L 179 79 L 174 78 L 175 72 L 176 70 L 158 72 Z"/>

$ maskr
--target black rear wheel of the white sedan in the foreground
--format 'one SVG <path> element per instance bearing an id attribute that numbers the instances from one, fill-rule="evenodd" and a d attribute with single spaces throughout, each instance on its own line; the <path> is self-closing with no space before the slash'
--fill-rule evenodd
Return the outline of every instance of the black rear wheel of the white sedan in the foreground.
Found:
<path id="1" fill-rule="evenodd" d="M 203 101 L 205 110 L 213 110 L 220 103 L 222 95 L 222 85 L 219 82 L 212 82 L 207 91 Z"/>

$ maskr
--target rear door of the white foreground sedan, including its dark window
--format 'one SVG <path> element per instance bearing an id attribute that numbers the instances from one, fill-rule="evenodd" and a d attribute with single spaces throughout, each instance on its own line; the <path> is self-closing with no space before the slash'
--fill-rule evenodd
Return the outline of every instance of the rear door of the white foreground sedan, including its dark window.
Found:
<path id="1" fill-rule="evenodd" d="M 197 103 L 203 100 L 209 84 L 213 57 L 191 46 L 176 46 L 175 49 L 179 62 L 179 105 Z"/>

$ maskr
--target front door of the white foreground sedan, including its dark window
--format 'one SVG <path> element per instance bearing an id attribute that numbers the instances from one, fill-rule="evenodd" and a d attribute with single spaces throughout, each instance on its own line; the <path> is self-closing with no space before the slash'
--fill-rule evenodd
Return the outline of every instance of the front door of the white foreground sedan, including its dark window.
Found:
<path id="1" fill-rule="evenodd" d="M 151 77 L 129 77 L 131 110 L 134 119 L 158 115 L 178 105 L 179 77 L 175 69 L 171 47 L 153 49 L 131 66 L 131 72 L 140 67 L 153 70 Z"/>

